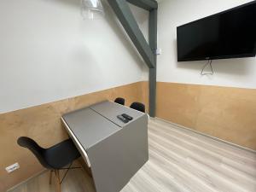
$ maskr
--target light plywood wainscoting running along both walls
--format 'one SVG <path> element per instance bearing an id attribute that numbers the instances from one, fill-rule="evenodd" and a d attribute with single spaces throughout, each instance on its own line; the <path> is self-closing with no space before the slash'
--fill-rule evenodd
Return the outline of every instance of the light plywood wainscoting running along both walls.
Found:
<path id="1" fill-rule="evenodd" d="M 124 97 L 127 106 L 144 102 L 148 110 L 148 82 L 138 82 L 0 114 L 0 191 L 43 169 L 28 150 L 16 144 L 18 137 L 32 137 L 47 148 L 67 138 L 62 113 L 117 96 Z M 156 116 L 256 150 L 256 90 L 158 82 Z M 20 169 L 5 172 L 15 162 Z"/>

